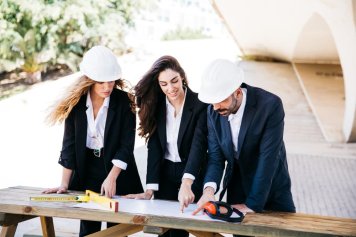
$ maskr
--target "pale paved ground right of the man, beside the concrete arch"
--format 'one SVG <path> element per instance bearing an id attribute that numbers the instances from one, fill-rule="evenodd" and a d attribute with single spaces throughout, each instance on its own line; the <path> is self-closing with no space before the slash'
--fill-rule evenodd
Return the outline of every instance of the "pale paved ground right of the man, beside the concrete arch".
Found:
<path id="1" fill-rule="evenodd" d="M 297 211 L 356 218 L 356 144 L 325 142 L 291 65 L 247 62 L 244 67 L 248 83 L 283 100 L 285 143 Z"/>

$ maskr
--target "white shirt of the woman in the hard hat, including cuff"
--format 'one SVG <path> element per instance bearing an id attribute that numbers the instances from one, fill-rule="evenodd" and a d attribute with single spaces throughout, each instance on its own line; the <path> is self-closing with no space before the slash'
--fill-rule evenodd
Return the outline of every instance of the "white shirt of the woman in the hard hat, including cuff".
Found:
<path id="1" fill-rule="evenodd" d="M 90 149 L 101 149 L 104 147 L 105 124 L 108 115 L 109 103 L 110 97 L 106 97 L 96 118 L 94 119 L 93 103 L 90 98 L 90 91 L 88 92 L 86 101 L 86 114 L 88 120 L 86 146 Z M 112 163 L 123 170 L 127 168 L 126 162 L 121 160 L 113 160 Z"/>

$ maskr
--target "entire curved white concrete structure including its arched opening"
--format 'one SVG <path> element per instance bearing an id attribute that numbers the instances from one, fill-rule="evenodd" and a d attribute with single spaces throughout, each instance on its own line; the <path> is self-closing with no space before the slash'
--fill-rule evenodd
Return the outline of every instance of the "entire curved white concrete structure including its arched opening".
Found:
<path id="1" fill-rule="evenodd" d="M 356 0 L 212 3 L 244 55 L 293 64 L 326 140 L 356 142 Z"/>

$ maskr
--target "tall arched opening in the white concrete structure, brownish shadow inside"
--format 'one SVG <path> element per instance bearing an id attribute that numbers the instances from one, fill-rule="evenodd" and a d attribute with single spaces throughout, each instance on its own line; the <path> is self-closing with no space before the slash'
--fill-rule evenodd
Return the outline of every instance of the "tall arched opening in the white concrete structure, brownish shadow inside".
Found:
<path id="1" fill-rule="evenodd" d="M 344 142 L 342 68 L 330 27 L 320 14 L 311 14 L 304 24 L 295 44 L 292 62 L 325 139 Z"/>

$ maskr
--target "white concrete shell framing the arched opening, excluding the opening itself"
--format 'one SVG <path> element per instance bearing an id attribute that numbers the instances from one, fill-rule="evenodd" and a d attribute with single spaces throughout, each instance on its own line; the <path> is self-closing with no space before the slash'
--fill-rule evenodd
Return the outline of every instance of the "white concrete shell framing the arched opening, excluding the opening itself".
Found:
<path id="1" fill-rule="evenodd" d="M 342 140 L 356 142 L 356 0 L 213 0 L 213 4 L 244 54 L 341 65 Z"/>

